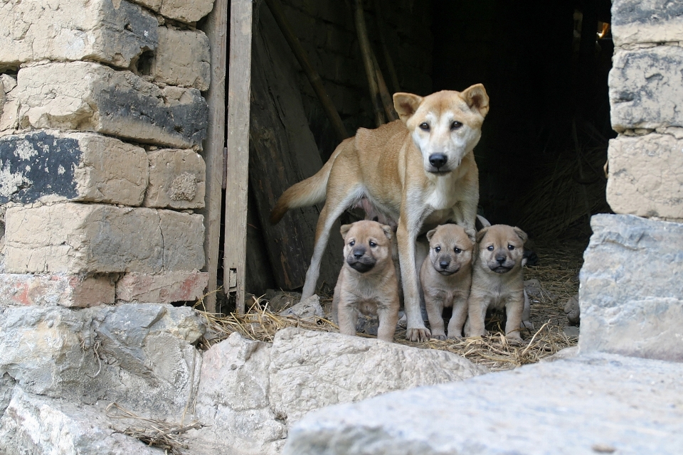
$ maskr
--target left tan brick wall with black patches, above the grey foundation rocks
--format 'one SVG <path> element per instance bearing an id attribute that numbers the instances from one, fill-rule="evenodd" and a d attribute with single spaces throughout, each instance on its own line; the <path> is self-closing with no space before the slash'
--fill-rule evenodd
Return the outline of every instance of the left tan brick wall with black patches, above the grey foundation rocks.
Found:
<path id="1" fill-rule="evenodd" d="M 1 305 L 201 296 L 212 7 L 0 4 Z"/>

